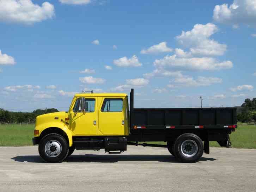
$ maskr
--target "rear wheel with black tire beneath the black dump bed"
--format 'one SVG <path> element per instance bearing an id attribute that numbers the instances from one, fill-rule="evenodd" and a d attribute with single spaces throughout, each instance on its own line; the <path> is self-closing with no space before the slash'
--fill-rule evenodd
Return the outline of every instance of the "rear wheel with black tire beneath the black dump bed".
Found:
<path id="1" fill-rule="evenodd" d="M 172 146 L 176 159 L 182 162 L 196 162 L 202 157 L 203 149 L 201 138 L 192 133 L 180 135 Z"/>

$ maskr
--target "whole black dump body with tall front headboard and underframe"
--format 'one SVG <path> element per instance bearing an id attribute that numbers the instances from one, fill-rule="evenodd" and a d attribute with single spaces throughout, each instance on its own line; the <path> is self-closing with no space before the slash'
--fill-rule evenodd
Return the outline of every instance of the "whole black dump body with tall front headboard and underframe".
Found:
<path id="1" fill-rule="evenodd" d="M 133 89 L 130 92 L 130 141 L 168 141 L 185 132 L 222 141 L 236 128 L 235 107 L 134 108 Z"/>

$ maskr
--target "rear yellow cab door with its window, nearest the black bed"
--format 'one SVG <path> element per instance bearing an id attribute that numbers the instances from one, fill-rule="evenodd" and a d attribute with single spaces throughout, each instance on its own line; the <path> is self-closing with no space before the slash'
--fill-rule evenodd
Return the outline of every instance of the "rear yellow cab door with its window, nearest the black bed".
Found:
<path id="1" fill-rule="evenodd" d="M 98 129 L 103 135 L 125 135 L 124 97 L 105 97 L 99 109 Z"/>

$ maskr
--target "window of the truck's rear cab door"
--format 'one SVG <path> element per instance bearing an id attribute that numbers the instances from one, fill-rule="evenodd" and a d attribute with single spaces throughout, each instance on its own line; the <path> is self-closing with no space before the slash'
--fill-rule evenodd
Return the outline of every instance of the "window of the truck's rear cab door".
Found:
<path id="1" fill-rule="evenodd" d="M 104 99 L 101 112 L 122 112 L 123 99 Z"/>

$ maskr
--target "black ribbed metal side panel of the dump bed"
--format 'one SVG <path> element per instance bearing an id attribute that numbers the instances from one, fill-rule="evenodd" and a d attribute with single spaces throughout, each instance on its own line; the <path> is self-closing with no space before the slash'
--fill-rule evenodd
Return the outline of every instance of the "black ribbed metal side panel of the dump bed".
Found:
<path id="1" fill-rule="evenodd" d="M 205 125 L 207 129 L 220 129 L 224 125 L 236 125 L 236 108 L 135 108 L 131 111 L 131 128 L 147 126 L 147 129 L 165 129 L 166 126 L 175 128 L 195 128 Z"/>

